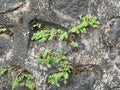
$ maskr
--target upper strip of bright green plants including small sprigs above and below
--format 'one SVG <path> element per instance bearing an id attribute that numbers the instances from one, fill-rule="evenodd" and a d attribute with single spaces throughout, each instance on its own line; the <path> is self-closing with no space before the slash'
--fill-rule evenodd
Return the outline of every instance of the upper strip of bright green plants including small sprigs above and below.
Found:
<path id="1" fill-rule="evenodd" d="M 46 42 L 47 40 L 53 40 L 55 37 L 59 36 L 60 41 L 67 41 L 70 34 L 80 34 L 80 33 L 87 33 L 87 29 L 89 26 L 93 28 L 97 28 L 99 22 L 97 21 L 97 17 L 86 15 L 86 16 L 79 16 L 79 19 L 82 20 L 82 23 L 72 27 L 68 31 L 62 31 L 60 29 L 43 29 L 41 30 L 41 24 L 37 23 L 33 25 L 33 27 L 37 27 L 39 31 L 33 34 L 32 40 L 38 40 L 39 42 Z M 77 42 L 70 42 L 70 45 L 78 48 L 79 44 Z"/>

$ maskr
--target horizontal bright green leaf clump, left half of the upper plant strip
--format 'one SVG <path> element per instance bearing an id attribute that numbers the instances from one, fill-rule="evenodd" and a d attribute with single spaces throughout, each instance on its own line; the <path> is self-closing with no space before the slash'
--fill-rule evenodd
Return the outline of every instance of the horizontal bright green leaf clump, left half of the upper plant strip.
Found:
<path id="1" fill-rule="evenodd" d="M 57 35 L 59 34 L 59 40 L 67 40 L 68 39 L 68 33 L 65 31 L 62 31 L 60 29 L 44 29 L 40 30 L 37 33 L 33 34 L 32 40 L 39 40 L 39 42 L 45 42 L 47 40 L 53 40 Z"/>

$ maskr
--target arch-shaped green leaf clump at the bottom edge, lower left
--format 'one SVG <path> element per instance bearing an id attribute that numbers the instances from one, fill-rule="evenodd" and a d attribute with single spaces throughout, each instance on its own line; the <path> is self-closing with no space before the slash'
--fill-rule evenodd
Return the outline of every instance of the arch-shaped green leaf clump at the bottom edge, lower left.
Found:
<path id="1" fill-rule="evenodd" d="M 16 77 L 12 84 L 12 90 L 15 90 L 21 83 L 28 87 L 30 90 L 35 89 L 34 77 L 28 73 L 21 73 Z"/>

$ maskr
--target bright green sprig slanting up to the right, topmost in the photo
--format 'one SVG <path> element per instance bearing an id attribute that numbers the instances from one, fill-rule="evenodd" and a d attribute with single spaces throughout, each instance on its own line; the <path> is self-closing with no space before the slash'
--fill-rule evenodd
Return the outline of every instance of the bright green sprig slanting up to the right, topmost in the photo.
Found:
<path id="1" fill-rule="evenodd" d="M 72 27 L 68 32 L 69 33 L 87 33 L 88 26 L 91 26 L 93 28 L 98 27 L 99 22 L 97 21 L 97 17 L 92 17 L 91 15 L 86 15 L 85 17 L 80 15 L 80 20 L 82 20 L 82 23 Z"/>

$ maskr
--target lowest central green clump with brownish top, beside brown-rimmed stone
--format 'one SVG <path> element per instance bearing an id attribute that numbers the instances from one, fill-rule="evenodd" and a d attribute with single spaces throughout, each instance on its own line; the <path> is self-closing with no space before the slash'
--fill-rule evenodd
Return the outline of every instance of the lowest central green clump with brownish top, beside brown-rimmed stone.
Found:
<path id="1" fill-rule="evenodd" d="M 58 72 L 48 76 L 48 83 L 57 87 L 60 87 L 60 81 L 66 84 L 72 69 L 73 67 L 70 62 L 60 61 Z"/>

